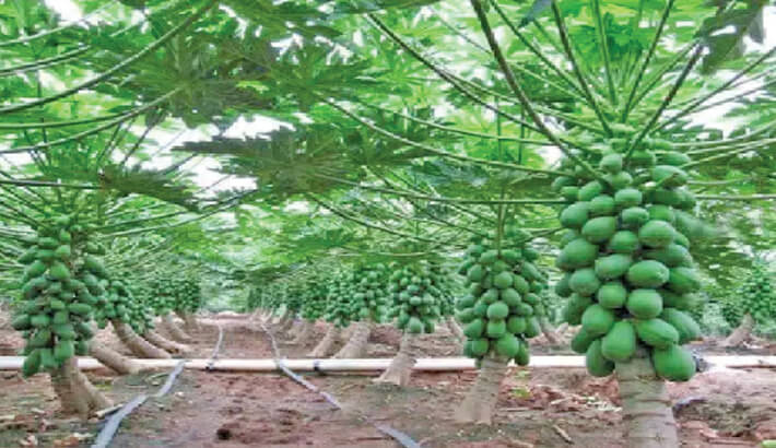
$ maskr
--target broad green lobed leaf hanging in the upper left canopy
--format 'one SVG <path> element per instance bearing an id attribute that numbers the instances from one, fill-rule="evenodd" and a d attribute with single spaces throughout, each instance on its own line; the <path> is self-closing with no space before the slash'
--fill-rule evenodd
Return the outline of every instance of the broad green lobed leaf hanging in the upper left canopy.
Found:
<path id="1" fill-rule="evenodd" d="M 178 93 L 165 103 L 165 108 L 188 127 L 212 120 L 225 122 L 237 113 L 271 107 L 271 97 L 239 86 L 240 81 L 261 79 L 271 70 L 277 59 L 271 43 L 252 35 L 237 36 L 232 30 L 237 22 L 228 17 L 213 21 L 210 26 L 223 32 L 212 35 L 197 30 L 176 36 L 163 51 L 138 61 L 131 76 L 101 83 L 96 90 L 116 98 L 136 101 L 139 93 L 143 98 L 157 98 L 176 89 Z M 106 70 L 139 51 L 142 39 L 127 43 L 121 38 L 103 37 L 99 46 L 109 51 L 92 63 L 97 70 Z"/>

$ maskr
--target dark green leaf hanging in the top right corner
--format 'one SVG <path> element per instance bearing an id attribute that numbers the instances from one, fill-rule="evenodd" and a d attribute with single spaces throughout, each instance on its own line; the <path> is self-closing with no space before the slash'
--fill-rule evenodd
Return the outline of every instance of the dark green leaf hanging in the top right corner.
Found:
<path id="1" fill-rule="evenodd" d="M 720 9 L 732 3 L 732 8 L 707 19 L 698 32 L 709 50 L 703 59 L 704 74 L 713 73 L 725 62 L 741 57 L 744 37 L 760 44 L 764 39 L 763 9 L 767 0 L 717 0 L 715 3 Z"/>

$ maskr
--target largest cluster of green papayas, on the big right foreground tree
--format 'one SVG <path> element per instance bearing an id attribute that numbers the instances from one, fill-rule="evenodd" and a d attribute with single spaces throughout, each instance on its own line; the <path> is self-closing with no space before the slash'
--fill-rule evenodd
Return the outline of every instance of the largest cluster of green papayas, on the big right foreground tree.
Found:
<path id="1" fill-rule="evenodd" d="M 638 346 L 666 379 L 695 373 L 692 354 L 681 347 L 699 335 L 686 313 L 699 288 L 689 251 L 698 226 L 687 213 L 695 199 L 682 169 L 690 158 L 663 146 L 642 146 L 630 158 L 622 151 L 602 154 L 602 179 L 564 160 L 563 169 L 577 175 L 553 182 L 569 202 L 560 214 L 567 231 L 556 266 L 565 275 L 555 292 L 568 297 L 564 319 L 581 323 L 572 347 L 586 354 L 595 376 L 611 374 Z"/>

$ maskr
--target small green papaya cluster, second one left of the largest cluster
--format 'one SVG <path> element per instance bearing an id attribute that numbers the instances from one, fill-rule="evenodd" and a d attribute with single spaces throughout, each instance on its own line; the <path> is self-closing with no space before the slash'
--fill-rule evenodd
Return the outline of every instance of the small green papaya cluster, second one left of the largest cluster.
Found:
<path id="1" fill-rule="evenodd" d="M 400 330 L 412 334 L 433 333 L 435 322 L 443 316 L 449 288 L 449 272 L 426 260 L 405 264 L 391 262 L 388 294 L 390 319 L 397 319 Z"/>

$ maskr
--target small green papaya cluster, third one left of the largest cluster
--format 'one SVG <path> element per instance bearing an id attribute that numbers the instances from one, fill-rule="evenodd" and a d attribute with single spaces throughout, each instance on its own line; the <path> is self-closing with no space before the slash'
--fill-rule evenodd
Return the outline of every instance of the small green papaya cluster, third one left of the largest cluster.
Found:
<path id="1" fill-rule="evenodd" d="M 381 322 L 388 310 L 385 264 L 364 264 L 339 272 L 329 288 L 325 317 L 340 328 L 351 321 Z"/>

